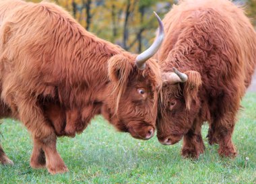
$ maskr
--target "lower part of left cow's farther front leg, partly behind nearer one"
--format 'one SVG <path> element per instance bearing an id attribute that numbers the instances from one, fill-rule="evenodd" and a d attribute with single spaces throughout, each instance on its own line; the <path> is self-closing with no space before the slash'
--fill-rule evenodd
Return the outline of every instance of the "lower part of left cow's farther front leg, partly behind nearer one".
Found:
<path id="1" fill-rule="evenodd" d="M 40 169 L 46 166 L 44 151 L 36 141 L 34 141 L 34 147 L 30 157 L 30 166 L 34 169 Z"/>

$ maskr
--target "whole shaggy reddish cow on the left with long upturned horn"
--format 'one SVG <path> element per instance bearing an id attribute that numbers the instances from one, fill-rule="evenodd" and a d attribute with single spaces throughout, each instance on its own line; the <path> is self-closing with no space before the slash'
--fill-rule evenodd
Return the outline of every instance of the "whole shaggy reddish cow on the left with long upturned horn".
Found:
<path id="1" fill-rule="evenodd" d="M 31 132 L 33 168 L 67 171 L 57 136 L 75 136 L 96 114 L 134 138 L 154 135 L 162 80 L 149 58 L 163 39 L 158 21 L 160 36 L 135 56 L 53 3 L 0 1 L 1 118 L 17 118 Z M 0 161 L 11 163 L 1 146 Z"/>

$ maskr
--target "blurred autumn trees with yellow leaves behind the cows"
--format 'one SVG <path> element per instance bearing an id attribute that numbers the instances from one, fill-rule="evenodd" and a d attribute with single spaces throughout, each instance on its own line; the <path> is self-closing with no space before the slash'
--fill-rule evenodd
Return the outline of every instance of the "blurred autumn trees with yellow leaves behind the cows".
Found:
<path id="1" fill-rule="evenodd" d="M 40 2 L 41 0 L 27 0 Z M 77 21 L 96 36 L 139 53 L 150 46 L 158 21 L 177 0 L 44 0 L 64 7 Z M 256 25 L 256 0 L 234 0 L 246 6 Z"/>

